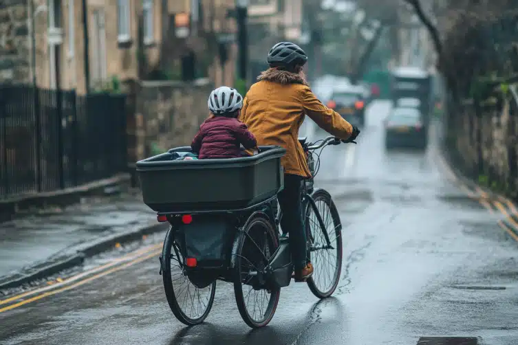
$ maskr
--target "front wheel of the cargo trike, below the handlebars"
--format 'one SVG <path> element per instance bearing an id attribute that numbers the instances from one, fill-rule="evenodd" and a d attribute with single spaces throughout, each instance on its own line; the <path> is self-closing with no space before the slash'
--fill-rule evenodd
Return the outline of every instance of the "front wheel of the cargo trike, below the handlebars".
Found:
<path id="1" fill-rule="evenodd" d="M 316 210 L 310 202 L 306 203 L 305 228 L 314 273 L 307 280 L 307 286 L 314 296 L 327 298 L 332 295 L 340 281 L 343 255 L 342 225 L 338 210 L 328 192 L 318 189 L 311 194 L 311 197 L 315 201 Z M 319 212 L 324 228 L 321 227 L 315 211 Z M 329 246 L 325 240 L 324 231 L 329 237 Z"/>

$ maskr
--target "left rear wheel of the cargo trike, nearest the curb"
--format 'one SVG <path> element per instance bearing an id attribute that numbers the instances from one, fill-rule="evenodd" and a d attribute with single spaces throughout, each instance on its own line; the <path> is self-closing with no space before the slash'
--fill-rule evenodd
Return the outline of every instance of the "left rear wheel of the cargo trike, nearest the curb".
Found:
<path id="1" fill-rule="evenodd" d="M 162 249 L 162 279 L 167 302 L 175 317 L 188 326 L 202 323 L 211 311 L 216 281 L 199 289 L 186 275 L 184 257 L 174 238 L 172 227 L 166 234 Z"/>

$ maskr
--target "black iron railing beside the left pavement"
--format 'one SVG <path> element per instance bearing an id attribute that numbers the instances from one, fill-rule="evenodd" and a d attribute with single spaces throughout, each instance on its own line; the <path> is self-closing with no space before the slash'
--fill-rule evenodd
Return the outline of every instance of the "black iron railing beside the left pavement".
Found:
<path id="1" fill-rule="evenodd" d="M 0 199 L 126 170 L 124 95 L 0 85 Z"/>

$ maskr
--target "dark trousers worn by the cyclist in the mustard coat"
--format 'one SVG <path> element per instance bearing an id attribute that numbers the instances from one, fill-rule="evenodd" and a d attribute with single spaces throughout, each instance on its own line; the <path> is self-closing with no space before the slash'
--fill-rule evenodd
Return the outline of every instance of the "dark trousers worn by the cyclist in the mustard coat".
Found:
<path id="1" fill-rule="evenodd" d="M 295 270 L 307 264 L 307 249 L 304 221 L 302 216 L 302 181 L 298 175 L 284 175 L 284 189 L 277 194 L 282 210 L 281 227 L 290 234 L 290 251 Z"/>

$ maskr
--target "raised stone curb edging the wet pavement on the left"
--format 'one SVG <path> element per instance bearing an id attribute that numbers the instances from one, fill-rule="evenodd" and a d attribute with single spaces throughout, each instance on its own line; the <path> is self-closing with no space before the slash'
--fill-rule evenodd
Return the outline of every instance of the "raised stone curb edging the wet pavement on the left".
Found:
<path id="1" fill-rule="evenodd" d="M 74 248 L 73 254 L 68 254 L 62 257 L 55 257 L 50 260 L 37 263 L 31 267 L 22 269 L 16 274 L 0 277 L 0 290 L 10 289 L 12 287 L 19 287 L 20 285 L 30 282 L 32 280 L 52 276 L 63 269 L 69 269 L 83 263 L 85 258 L 94 256 L 101 252 L 105 252 L 115 247 L 116 243 L 128 243 L 142 239 L 142 236 L 161 232 L 167 229 L 166 223 L 150 223 L 144 227 L 139 227 L 136 230 L 124 232 L 122 234 L 114 234 L 105 238 L 79 245 Z"/>

